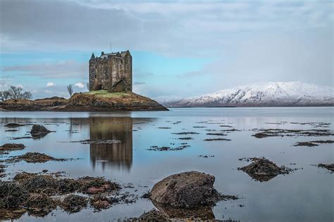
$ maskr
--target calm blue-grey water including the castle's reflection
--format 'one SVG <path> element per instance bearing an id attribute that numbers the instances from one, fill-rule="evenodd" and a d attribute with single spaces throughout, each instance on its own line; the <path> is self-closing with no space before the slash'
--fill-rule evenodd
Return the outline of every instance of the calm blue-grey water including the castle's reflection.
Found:
<path id="1" fill-rule="evenodd" d="M 254 128 L 311 129 L 311 125 L 290 122 L 331 123 L 333 108 L 202 108 L 171 109 L 159 112 L 132 113 L 52 113 L 52 112 L 0 112 L 1 144 L 23 143 L 27 148 L 11 152 L 10 156 L 25 152 L 42 152 L 56 158 L 80 158 L 75 161 L 27 164 L 24 161 L 6 168 L 7 178 L 17 171 L 66 171 L 70 177 L 85 175 L 104 176 L 141 196 L 157 181 L 173 173 L 202 171 L 215 175 L 219 192 L 238 195 L 242 199 L 219 202 L 213 208 L 217 219 L 233 218 L 240 221 L 333 221 L 334 174 L 311 164 L 334 162 L 333 144 L 318 147 L 293 147 L 295 142 L 333 140 L 333 137 L 252 137 Z M 286 124 L 269 124 L 287 122 Z M 10 140 L 22 137 L 31 125 L 18 132 L 5 132 L 6 123 L 35 123 L 55 130 L 39 140 Z M 204 122 L 204 123 L 200 123 Z M 217 137 L 206 135 L 208 130 L 225 130 L 220 125 L 231 125 L 242 131 L 224 136 L 231 141 L 203 141 Z M 204 128 L 194 128 L 201 126 Z M 162 129 L 168 128 L 168 129 Z M 319 128 L 320 129 L 320 128 Z M 172 132 L 199 132 L 199 135 L 173 135 Z M 193 137 L 193 140 L 178 140 Z M 75 140 L 121 140 L 120 144 L 68 143 Z M 187 142 L 190 147 L 179 151 L 149 151 L 151 146 L 177 147 Z M 202 158 L 199 155 L 214 155 Z M 289 175 L 278 175 L 268 182 L 259 183 L 242 171 L 242 157 L 261 157 L 278 165 L 303 168 Z M 295 164 L 295 165 L 290 165 Z M 6 179 L 6 178 L 4 178 Z M 147 187 L 146 187 L 147 186 Z M 137 190 L 135 192 L 135 190 Z M 238 205 L 245 205 L 240 207 Z M 118 204 L 110 209 L 93 213 L 85 209 L 76 214 L 54 211 L 44 219 L 71 221 L 115 221 L 118 218 L 140 216 L 154 208 L 146 199 L 134 204 Z M 43 218 L 23 216 L 20 221 L 39 221 Z"/>

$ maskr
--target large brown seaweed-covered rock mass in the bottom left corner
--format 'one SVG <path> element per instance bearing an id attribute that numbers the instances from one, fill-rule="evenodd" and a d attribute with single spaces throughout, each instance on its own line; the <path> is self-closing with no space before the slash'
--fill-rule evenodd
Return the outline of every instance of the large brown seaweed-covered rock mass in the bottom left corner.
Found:
<path id="1" fill-rule="evenodd" d="M 118 195 L 118 190 L 120 185 L 104 178 L 72 179 L 54 174 L 18 173 L 11 181 L 0 181 L 0 220 L 20 218 L 26 211 L 33 216 L 46 216 L 57 206 L 75 213 L 87 206 L 89 197 L 94 209 L 106 209 L 122 200 L 107 197 Z M 54 197 L 58 195 L 66 197 L 61 201 Z"/>

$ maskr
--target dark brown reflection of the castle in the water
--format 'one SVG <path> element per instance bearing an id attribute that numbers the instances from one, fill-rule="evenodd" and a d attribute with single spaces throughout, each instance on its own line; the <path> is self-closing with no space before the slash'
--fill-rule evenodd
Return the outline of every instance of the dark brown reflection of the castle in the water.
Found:
<path id="1" fill-rule="evenodd" d="M 113 144 L 90 144 L 89 154 L 93 168 L 130 170 L 132 166 L 132 118 L 94 118 L 89 124 L 90 140 L 120 140 Z"/>

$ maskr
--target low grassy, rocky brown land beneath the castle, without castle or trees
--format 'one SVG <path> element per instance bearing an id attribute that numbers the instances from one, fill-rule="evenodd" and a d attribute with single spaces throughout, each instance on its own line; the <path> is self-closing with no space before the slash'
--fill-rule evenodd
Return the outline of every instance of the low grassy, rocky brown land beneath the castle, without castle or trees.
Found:
<path id="1" fill-rule="evenodd" d="M 109 93 L 104 90 L 75 93 L 70 99 L 10 99 L 0 102 L 0 111 L 168 111 L 158 102 L 133 92 Z"/>

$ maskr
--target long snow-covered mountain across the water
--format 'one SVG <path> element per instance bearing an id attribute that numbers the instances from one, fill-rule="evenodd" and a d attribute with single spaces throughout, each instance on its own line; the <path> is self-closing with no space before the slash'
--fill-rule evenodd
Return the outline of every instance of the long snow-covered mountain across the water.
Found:
<path id="1" fill-rule="evenodd" d="M 167 101 L 181 106 L 334 106 L 334 87 L 304 82 L 264 82 L 242 85 L 200 97 Z"/>

